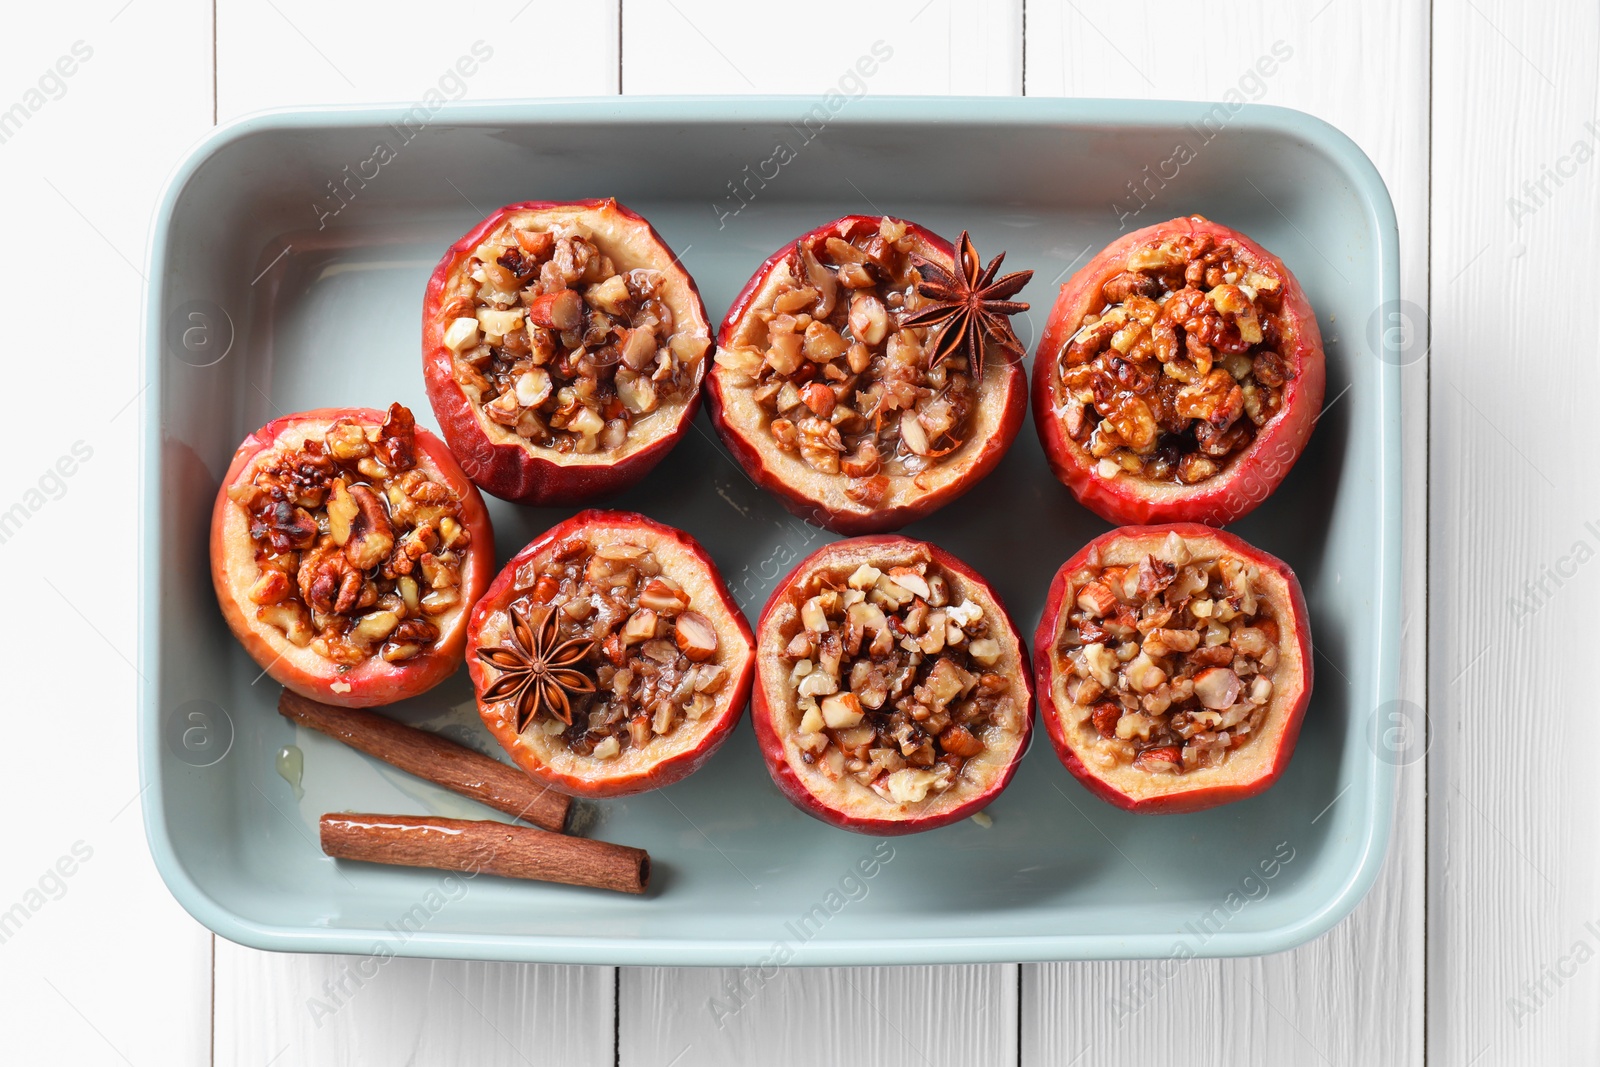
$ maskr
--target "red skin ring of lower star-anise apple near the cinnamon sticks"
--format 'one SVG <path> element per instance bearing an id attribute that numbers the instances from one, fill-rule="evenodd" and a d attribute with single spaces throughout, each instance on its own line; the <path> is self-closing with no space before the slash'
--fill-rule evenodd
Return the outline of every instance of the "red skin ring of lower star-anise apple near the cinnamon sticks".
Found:
<path id="1" fill-rule="evenodd" d="M 651 789 L 661 789 L 662 785 L 670 785 L 698 771 L 707 760 L 710 760 L 712 755 L 715 755 L 717 749 L 720 749 L 733 733 L 733 728 L 739 725 L 739 717 L 744 715 L 744 707 L 749 704 L 750 680 L 755 677 L 755 638 L 750 635 L 750 624 L 746 621 L 744 613 L 739 611 L 739 605 L 734 601 L 733 593 L 728 592 L 728 585 L 723 582 L 717 565 L 694 537 L 682 530 L 675 530 L 640 515 L 638 512 L 589 509 L 578 512 L 566 522 L 552 526 L 539 537 L 528 542 L 522 552 L 514 555 L 506 566 L 501 568 L 501 573 L 493 582 L 490 582 L 488 592 L 485 592 L 478 600 L 477 608 L 472 611 L 472 621 L 467 624 L 467 673 L 472 677 L 474 694 L 482 693 L 485 686 L 483 665 L 478 662 L 474 651 L 478 648 L 478 633 L 483 629 L 485 621 L 493 613 L 502 611 L 506 605 L 517 598 L 514 589 L 517 568 L 566 537 L 592 530 L 597 525 L 608 528 L 626 526 L 629 530 L 645 531 L 650 542 L 656 545 L 677 545 L 696 557 L 706 568 L 707 584 L 720 598 L 722 608 L 726 614 L 725 619 L 714 621 L 717 624 L 718 640 L 726 641 L 730 638 L 728 625 L 731 624 L 734 633 L 744 643 L 742 665 L 731 665 L 728 672 L 728 702 L 710 721 L 710 726 L 706 728 L 706 733 L 698 744 L 688 752 L 661 760 L 659 763 L 637 773 L 578 776 L 557 771 L 542 760 L 538 760 L 525 745 L 518 744 L 515 725 L 507 721 L 506 717 L 490 710 L 483 701 L 478 699 L 478 713 L 483 717 L 483 725 L 488 726 L 490 733 L 494 734 L 494 739 L 501 742 L 501 747 L 510 753 L 510 757 L 517 761 L 517 766 L 520 766 L 530 777 L 557 792 L 566 793 L 568 797 L 605 798 L 627 797 L 632 793 L 648 792 Z M 698 603 L 696 609 L 701 609 Z"/>

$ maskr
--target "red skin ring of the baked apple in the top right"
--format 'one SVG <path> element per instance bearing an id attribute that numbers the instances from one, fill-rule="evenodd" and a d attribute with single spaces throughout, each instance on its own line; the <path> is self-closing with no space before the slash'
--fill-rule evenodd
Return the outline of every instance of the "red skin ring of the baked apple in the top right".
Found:
<path id="1" fill-rule="evenodd" d="M 1160 488 L 1149 482 L 1136 483 L 1128 477 L 1101 478 L 1094 472 L 1094 458 L 1067 437 L 1061 418 L 1056 416 L 1050 395 L 1051 381 L 1078 325 L 1098 302 L 1101 286 L 1122 270 L 1128 254 L 1150 242 L 1182 234 L 1210 234 L 1219 242 L 1237 242 L 1246 258 L 1267 264 L 1280 274 L 1282 307 L 1288 326 L 1286 344 L 1280 355 L 1290 360 L 1296 373 L 1285 387 L 1278 413 L 1256 430 L 1250 446 L 1216 477 L 1197 486 Z M 1317 315 L 1301 283 L 1283 261 L 1238 230 L 1210 219 L 1200 216 L 1171 219 L 1117 238 L 1061 286 L 1061 296 L 1050 312 L 1034 358 L 1034 429 L 1038 430 L 1038 443 L 1056 478 L 1072 490 L 1080 504 L 1106 522 L 1118 525 L 1197 522 L 1222 526 L 1267 499 L 1299 459 L 1322 413 L 1326 376 Z"/>

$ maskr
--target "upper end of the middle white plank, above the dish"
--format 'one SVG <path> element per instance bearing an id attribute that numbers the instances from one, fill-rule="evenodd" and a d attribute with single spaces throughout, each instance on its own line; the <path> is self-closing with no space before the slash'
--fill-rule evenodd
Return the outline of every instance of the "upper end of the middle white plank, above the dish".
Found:
<path id="1" fill-rule="evenodd" d="M 626 93 L 1016 94 L 1021 0 L 627 3 Z"/>

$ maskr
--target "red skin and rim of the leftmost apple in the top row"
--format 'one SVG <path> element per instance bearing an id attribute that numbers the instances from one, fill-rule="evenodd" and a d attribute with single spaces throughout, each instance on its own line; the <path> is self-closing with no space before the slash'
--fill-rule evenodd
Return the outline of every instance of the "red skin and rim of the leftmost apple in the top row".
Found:
<path id="1" fill-rule="evenodd" d="M 650 474 L 672 451 L 674 445 L 678 443 L 688 430 L 690 422 L 694 421 L 694 413 L 699 411 L 701 394 L 696 384 L 696 389 L 690 392 L 688 400 L 678 411 L 675 427 L 669 434 L 611 464 L 557 462 L 542 454 L 547 450 L 539 450 L 541 454 L 534 454 L 530 448 L 515 442 L 490 440 L 474 413 L 472 402 L 451 373 L 451 352 L 445 346 L 445 326 L 440 320 L 440 310 L 445 288 L 456 267 L 470 258 L 472 251 L 509 216 L 526 211 L 582 211 L 587 218 L 597 221 L 598 227 L 646 235 L 659 250 L 662 272 L 677 274 L 686 285 L 693 304 L 690 312 L 706 326 L 707 336 L 710 334 L 710 318 L 706 314 L 706 304 L 701 301 L 699 290 L 694 286 L 694 278 L 677 262 L 672 250 L 661 240 L 654 227 L 642 216 L 610 198 L 565 202 L 525 200 L 522 203 L 509 203 L 451 245 L 443 259 L 438 261 L 438 266 L 434 267 L 434 275 L 427 282 L 427 294 L 422 301 L 422 379 L 427 389 L 427 400 L 434 408 L 434 418 L 438 421 L 438 429 L 445 435 L 445 440 L 450 442 L 451 451 L 461 461 L 462 470 L 485 493 L 515 504 L 526 504 L 530 507 L 582 504 L 598 496 L 621 493 Z M 706 366 L 712 362 L 714 355 L 715 347 L 707 347 L 698 370 L 701 376 L 704 376 Z"/>

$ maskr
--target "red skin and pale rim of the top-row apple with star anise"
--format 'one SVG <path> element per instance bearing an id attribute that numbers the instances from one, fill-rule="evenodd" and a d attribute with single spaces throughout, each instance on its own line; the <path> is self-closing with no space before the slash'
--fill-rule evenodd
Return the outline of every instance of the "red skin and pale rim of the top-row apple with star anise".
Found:
<path id="1" fill-rule="evenodd" d="M 842 219 L 835 219 L 826 226 L 819 226 L 808 234 L 802 234 L 795 240 L 789 242 L 760 266 L 755 275 L 746 282 L 744 288 L 733 299 L 733 306 L 728 309 L 728 315 L 722 320 L 722 328 L 717 331 L 718 347 L 726 346 L 739 326 L 739 320 L 744 318 L 746 312 L 750 310 L 750 302 L 755 294 L 760 293 L 762 286 L 766 283 L 773 270 L 778 269 L 802 243 L 811 240 L 824 240 L 827 237 L 838 237 L 840 240 L 850 240 L 859 235 L 862 230 L 877 230 L 882 216 L 869 214 L 846 214 Z M 955 248 L 950 242 L 944 240 L 933 230 L 917 226 L 915 222 L 907 222 L 907 230 L 917 234 L 923 242 L 926 242 L 933 250 L 939 253 L 944 266 L 952 266 L 955 262 Z M 1022 370 L 1021 363 L 1005 363 L 1000 358 L 987 360 L 989 365 L 998 365 L 1003 373 L 1003 381 L 1000 384 L 1000 392 L 1003 398 L 1003 413 L 1000 426 L 989 440 L 984 442 L 979 456 L 973 461 L 971 469 L 958 482 L 939 486 L 938 490 L 917 498 L 914 502 L 899 507 L 885 507 L 872 512 L 840 512 L 829 510 L 822 507 L 818 501 L 795 491 L 787 482 L 779 478 L 762 459 L 760 451 L 755 445 L 744 437 L 738 429 L 728 424 L 725 418 L 726 400 L 723 392 L 733 389 L 733 386 L 725 382 L 726 374 L 722 368 L 712 366 L 706 374 L 706 408 L 710 414 L 710 422 L 717 427 L 717 435 L 722 437 L 723 445 L 733 453 L 733 458 L 746 474 L 760 485 L 763 490 L 773 493 L 778 501 L 794 515 L 816 523 L 824 530 L 832 530 L 837 534 L 856 536 L 856 534 L 872 534 L 883 533 L 888 530 L 899 530 L 909 523 L 917 522 L 925 515 L 931 515 L 950 501 L 957 499 L 974 485 L 982 482 L 990 470 L 994 470 L 1000 461 L 1005 458 L 1006 450 L 1011 448 L 1011 442 L 1016 440 L 1018 432 L 1022 429 L 1022 419 L 1027 414 L 1027 373 Z M 984 378 L 990 378 L 990 371 L 984 370 Z M 994 389 L 994 386 L 987 386 Z M 992 402 L 990 402 L 992 403 Z"/>

